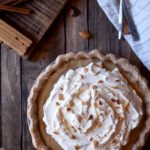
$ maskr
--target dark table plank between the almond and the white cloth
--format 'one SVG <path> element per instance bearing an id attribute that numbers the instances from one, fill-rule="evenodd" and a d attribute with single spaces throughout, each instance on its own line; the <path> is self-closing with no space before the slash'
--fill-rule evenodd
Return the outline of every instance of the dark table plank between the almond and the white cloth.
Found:
<path id="1" fill-rule="evenodd" d="M 97 1 L 88 3 L 89 31 L 93 38 L 89 40 L 89 49 L 98 48 L 104 53 L 115 52 L 120 49 L 117 32 L 106 18 Z"/>

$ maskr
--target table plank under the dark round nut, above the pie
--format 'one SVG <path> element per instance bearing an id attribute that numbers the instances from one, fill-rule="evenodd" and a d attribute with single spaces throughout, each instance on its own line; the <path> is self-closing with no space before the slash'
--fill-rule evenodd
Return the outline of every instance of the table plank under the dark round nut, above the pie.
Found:
<path id="1" fill-rule="evenodd" d="M 69 10 L 72 6 L 77 7 L 81 14 L 72 17 Z M 88 50 L 88 40 L 82 39 L 79 32 L 88 31 L 87 25 L 87 0 L 69 1 L 66 10 L 66 51 Z"/>

